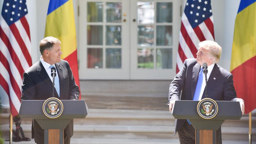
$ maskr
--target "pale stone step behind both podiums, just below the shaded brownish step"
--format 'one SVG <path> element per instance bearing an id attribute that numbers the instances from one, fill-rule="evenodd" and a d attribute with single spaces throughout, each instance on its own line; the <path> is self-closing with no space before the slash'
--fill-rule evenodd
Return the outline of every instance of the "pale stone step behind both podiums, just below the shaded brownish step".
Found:
<path id="1" fill-rule="evenodd" d="M 9 114 L 1 114 L 0 124 L 9 123 Z M 31 119 L 22 119 L 22 124 L 31 124 Z M 226 120 L 222 126 L 248 127 L 249 117 L 240 120 Z M 169 111 L 160 110 L 125 110 L 125 109 L 89 109 L 85 119 L 75 119 L 74 124 L 105 125 L 174 125 L 174 118 Z M 256 127 L 256 116 L 252 116 L 252 127 Z"/>

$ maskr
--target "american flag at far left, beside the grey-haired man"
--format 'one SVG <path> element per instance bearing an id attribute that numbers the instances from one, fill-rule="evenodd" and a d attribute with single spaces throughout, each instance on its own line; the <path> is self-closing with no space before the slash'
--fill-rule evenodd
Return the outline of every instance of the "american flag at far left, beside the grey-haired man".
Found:
<path id="1" fill-rule="evenodd" d="M 0 17 L 0 84 L 12 116 L 20 110 L 24 71 L 32 65 L 26 0 L 4 0 Z"/>

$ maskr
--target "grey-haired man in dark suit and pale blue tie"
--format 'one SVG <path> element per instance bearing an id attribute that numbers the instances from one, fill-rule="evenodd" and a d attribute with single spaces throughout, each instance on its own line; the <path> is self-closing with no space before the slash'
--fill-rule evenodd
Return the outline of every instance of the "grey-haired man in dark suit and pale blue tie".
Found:
<path id="1" fill-rule="evenodd" d="M 45 37 L 40 41 L 39 49 L 42 54 L 40 60 L 28 68 L 23 74 L 21 100 L 46 100 L 52 97 L 51 68 L 57 69 L 54 79 L 54 97 L 60 100 L 77 100 L 79 87 L 75 83 L 69 64 L 60 59 L 60 40 L 55 37 Z M 73 135 L 73 119 L 64 129 L 64 143 L 69 144 Z M 44 130 L 33 119 L 32 139 L 37 144 L 44 143 Z"/>

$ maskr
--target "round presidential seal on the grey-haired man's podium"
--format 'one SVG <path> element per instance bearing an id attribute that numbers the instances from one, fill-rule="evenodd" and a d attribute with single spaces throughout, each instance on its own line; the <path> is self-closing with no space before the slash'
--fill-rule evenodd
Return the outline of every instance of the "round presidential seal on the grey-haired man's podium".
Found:
<path id="1" fill-rule="evenodd" d="M 49 98 L 44 101 L 43 113 L 49 118 L 57 118 L 63 112 L 63 104 L 57 98 Z"/>

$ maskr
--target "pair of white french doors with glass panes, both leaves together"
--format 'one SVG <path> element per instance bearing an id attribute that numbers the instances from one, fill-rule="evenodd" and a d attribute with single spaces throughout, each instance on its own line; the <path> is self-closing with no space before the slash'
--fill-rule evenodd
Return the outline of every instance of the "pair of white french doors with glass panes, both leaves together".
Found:
<path id="1" fill-rule="evenodd" d="M 80 79 L 172 79 L 180 0 L 79 0 Z"/>

